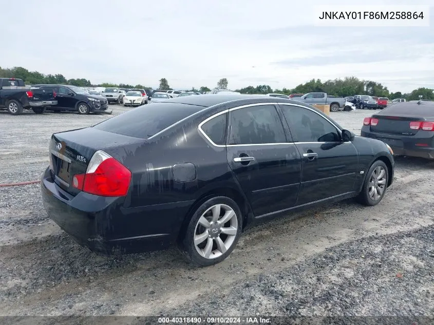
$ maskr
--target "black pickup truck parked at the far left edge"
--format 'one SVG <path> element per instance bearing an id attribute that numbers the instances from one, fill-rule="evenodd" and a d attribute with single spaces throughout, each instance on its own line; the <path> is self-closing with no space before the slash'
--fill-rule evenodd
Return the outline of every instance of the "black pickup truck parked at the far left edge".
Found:
<path id="1" fill-rule="evenodd" d="M 52 90 L 25 86 L 22 79 L 0 78 L 0 109 L 12 115 L 20 115 L 23 109 L 41 114 L 48 106 L 57 105 L 55 96 Z"/>

